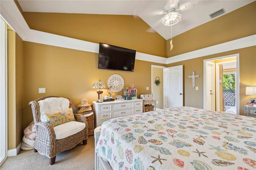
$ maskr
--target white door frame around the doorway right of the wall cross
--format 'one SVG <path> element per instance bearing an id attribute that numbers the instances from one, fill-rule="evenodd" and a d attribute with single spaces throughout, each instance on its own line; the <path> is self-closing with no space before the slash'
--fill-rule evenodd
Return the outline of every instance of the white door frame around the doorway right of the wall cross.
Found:
<path id="1" fill-rule="evenodd" d="M 240 106 L 239 106 L 239 53 L 237 54 L 232 54 L 232 55 L 226 55 L 226 56 L 221 56 L 221 57 L 216 57 L 216 58 L 210 58 L 210 59 L 204 59 L 204 109 L 206 109 L 206 64 L 207 61 L 212 61 L 212 60 L 218 60 L 218 59 L 224 59 L 224 58 L 230 58 L 230 57 L 236 57 L 236 114 L 239 114 L 240 112 Z M 216 90 L 217 93 L 217 90 Z"/>

